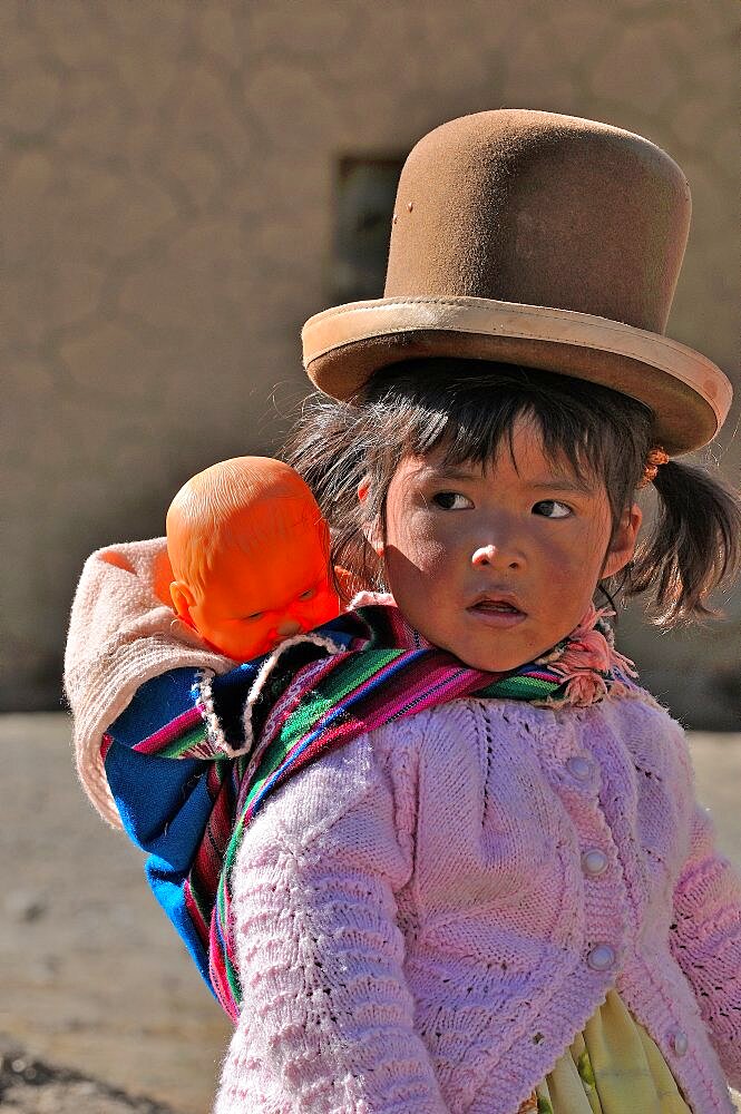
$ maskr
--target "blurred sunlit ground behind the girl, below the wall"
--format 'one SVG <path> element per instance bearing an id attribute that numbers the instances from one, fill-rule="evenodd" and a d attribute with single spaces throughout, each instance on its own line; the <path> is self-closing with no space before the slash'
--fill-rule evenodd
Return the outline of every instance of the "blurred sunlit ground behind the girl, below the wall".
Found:
<path id="1" fill-rule="evenodd" d="M 204 1114 L 230 1026 L 140 856 L 76 784 L 69 721 L 0 717 L 0 1108 Z M 693 747 L 700 797 L 741 863 L 741 734 Z"/>

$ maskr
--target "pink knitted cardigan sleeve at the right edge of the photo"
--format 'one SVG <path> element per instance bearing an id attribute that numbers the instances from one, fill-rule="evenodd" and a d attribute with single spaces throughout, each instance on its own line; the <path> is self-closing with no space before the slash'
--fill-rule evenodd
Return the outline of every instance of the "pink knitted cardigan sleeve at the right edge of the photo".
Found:
<path id="1" fill-rule="evenodd" d="M 696 807 L 690 854 L 674 893 L 672 951 L 734 1087 L 741 1086 L 741 879 L 715 850 Z"/>

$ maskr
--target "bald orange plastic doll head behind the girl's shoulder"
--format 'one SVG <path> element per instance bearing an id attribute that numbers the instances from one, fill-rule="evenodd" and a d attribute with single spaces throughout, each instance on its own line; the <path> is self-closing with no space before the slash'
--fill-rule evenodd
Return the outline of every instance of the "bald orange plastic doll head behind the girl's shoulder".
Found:
<path id="1" fill-rule="evenodd" d="M 237 457 L 189 479 L 167 512 L 167 550 L 173 607 L 235 661 L 340 612 L 326 522 L 280 460 Z"/>

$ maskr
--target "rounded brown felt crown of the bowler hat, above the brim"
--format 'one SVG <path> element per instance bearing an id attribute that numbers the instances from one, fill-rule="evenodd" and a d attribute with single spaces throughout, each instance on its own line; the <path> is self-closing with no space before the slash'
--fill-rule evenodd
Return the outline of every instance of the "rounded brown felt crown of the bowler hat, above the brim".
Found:
<path id="1" fill-rule="evenodd" d="M 663 333 L 690 213 L 681 168 L 641 136 L 552 113 L 465 116 L 404 164 L 384 296 L 496 299 Z"/>

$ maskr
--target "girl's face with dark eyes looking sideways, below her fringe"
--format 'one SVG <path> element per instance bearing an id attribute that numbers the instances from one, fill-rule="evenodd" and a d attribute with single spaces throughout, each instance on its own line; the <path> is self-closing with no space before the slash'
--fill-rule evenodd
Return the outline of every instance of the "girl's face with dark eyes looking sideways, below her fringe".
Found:
<path id="1" fill-rule="evenodd" d="M 634 505 L 611 541 L 602 483 L 575 476 L 565 459 L 549 461 L 532 423 L 515 427 L 513 450 L 505 444 L 484 469 L 445 466 L 441 451 L 403 459 L 382 538 L 387 582 L 407 619 L 491 672 L 524 665 L 569 634 L 598 580 L 631 559 L 641 525 Z"/>

